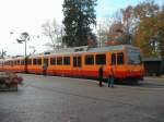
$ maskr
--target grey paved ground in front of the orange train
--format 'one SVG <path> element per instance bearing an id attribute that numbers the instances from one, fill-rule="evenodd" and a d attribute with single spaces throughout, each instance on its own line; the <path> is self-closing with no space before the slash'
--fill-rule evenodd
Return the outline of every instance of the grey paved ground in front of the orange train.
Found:
<path id="1" fill-rule="evenodd" d="M 164 122 L 164 85 L 98 87 L 97 82 L 23 75 L 16 93 L 0 93 L 0 122 Z"/>

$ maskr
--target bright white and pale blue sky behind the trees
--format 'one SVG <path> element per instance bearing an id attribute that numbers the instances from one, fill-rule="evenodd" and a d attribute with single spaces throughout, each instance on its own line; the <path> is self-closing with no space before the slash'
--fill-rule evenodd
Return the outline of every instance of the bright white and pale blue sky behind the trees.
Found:
<path id="1" fill-rule="evenodd" d="M 97 20 L 108 17 L 118 9 L 134 5 L 142 0 L 98 0 L 96 7 Z M 155 0 L 162 4 L 163 0 Z M 0 0 L 0 51 L 7 54 L 24 54 L 24 45 L 17 44 L 16 38 L 21 33 L 27 32 L 31 40 L 27 41 L 27 53 L 33 51 L 43 52 L 44 46 L 50 40 L 42 35 L 42 24 L 47 20 L 56 19 L 61 24 L 63 0 Z M 11 34 L 11 32 L 13 34 Z M 37 36 L 39 35 L 39 38 Z"/>

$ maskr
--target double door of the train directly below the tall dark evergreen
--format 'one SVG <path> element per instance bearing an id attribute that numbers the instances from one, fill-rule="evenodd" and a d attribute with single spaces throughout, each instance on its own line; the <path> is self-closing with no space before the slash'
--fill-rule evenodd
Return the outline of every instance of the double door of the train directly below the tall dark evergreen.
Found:
<path id="1" fill-rule="evenodd" d="M 82 57 L 73 56 L 73 75 L 81 75 Z"/>

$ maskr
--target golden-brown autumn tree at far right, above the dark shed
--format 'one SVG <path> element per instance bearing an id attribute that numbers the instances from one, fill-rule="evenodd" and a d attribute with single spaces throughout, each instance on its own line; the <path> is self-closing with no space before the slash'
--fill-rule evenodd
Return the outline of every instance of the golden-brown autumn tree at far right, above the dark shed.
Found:
<path id="1" fill-rule="evenodd" d="M 144 57 L 164 58 L 164 12 L 142 19 L 134 37 Z"/>

